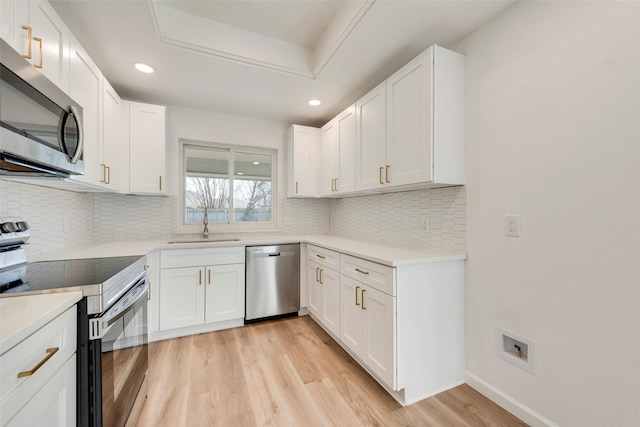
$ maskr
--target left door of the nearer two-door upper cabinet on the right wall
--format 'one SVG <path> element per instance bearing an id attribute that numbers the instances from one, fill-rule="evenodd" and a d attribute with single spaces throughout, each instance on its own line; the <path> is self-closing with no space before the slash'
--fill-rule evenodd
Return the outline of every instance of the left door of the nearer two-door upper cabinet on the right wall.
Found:
<path id="1" fill-rule="evenodd" d="M 385 184 L 386 82 L 356 102 L 356 189 Z"/>

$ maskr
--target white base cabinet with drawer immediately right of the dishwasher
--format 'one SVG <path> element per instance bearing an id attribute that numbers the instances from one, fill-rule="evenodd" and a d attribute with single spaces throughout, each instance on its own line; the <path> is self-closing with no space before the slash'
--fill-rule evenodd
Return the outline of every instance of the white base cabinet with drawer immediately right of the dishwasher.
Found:
<path id="1" fill-rule="evenodd" d="M 334 336 L 340 333 L 339 254 L 307 246 L 308 310 Z"/>

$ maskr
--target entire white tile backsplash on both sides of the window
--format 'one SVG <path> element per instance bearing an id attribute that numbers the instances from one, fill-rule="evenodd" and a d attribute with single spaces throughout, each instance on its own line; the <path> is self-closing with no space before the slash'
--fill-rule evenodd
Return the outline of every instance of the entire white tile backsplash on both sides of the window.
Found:
<path id="1" fill-rule="evenodd" d="M 94 241 L 169 239 L 176 197 L 83 194 L 0 180 L 0 220 L 32 227 L 29 258 Z M 466 250 L 465 187 L 346 199 L 278 200 L 277 234 L 331 234 L 393 246 Z M 430 230 L 422 230 L 422 219 Z M 269 235 L 272 233 L 262 233 Z"/>

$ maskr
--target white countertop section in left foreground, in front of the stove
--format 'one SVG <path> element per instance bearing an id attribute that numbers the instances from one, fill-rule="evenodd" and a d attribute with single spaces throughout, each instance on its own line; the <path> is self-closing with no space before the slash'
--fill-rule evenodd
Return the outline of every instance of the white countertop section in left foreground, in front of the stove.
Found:
<path id="1" fill-rule="evenodd" d="M 82 292 L 0 298 L 0 354 L 80 301 Z"/>

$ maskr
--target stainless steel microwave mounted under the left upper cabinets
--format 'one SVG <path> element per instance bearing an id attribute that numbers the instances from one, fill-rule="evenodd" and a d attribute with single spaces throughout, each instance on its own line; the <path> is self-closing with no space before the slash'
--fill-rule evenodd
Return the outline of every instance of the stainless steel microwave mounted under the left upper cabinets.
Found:
<path id="1" fill-rule="evenodd" d="M 0 175 L 84 174 L 82 107 L 0 39 Z"/>

